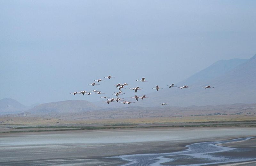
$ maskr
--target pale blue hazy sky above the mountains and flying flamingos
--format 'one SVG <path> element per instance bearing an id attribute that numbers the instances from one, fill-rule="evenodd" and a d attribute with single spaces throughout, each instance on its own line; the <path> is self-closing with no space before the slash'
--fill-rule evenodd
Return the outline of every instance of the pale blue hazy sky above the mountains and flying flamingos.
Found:
<path id="1" fill-rule="evenodd" d="M 256 53 L 255 9 L 254 0 L 0 0 L 0 99 L 97 101 L 69 93 L 114 97 L 112 84 L 125 82 L 146 94 L 220 59 L 248 59 Z M 116 78 L 88 85 L 108 75 Z M 150 83 L 135 82 L 141 77 Z"/>

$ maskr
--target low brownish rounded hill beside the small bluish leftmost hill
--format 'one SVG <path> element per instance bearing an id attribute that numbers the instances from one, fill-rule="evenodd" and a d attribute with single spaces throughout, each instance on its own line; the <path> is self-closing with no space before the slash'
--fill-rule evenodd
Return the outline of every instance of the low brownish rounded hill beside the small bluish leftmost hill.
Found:
<path id="1" fill-rule="evenodd" d="M 25 112 L 26 115 L 58 115 L 58 114 L 65 114 L 65 113 L 78 113 L 78 112 L 86 112 L 86 111 L 93 111 L 98 110 L 101 107 L 92 104 L 86 100 L 67 100 L 67 101 L 60 101 L 60 102 L 51 102 L 51 103 L 44 103 L 35 106 L 32 109 L 29 109 Z"/>

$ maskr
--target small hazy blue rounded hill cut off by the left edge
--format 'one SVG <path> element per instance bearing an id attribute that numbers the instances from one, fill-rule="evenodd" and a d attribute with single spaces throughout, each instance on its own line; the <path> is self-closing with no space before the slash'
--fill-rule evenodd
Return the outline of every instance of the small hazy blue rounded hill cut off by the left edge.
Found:
<path id="1" fill-rule="evenodd" d="M 11 98 L 4 98 L 0 100 L 0 115 L 16 113 L 28 109 L 18 101 Z"/>

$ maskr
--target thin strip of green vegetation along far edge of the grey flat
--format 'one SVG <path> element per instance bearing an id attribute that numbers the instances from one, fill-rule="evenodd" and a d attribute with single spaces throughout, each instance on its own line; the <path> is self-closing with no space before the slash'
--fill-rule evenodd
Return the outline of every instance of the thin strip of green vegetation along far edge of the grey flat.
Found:
<path id="1" fill-rule="evenodd" d="M 110 131 L 110 130 L 129 130 L 129 129 L 155 129 L 155 128 L 234 128 L 234 127 L 256 127 L 256 123 L 199 123 L 199 124 L 147 124 L 147 125 L 104 125 L 104 126 L 3 126 L 0 127 L 1 134 L 8 133 L 41 133 L 41 132 L 73 132 L 73 131 Z"/>

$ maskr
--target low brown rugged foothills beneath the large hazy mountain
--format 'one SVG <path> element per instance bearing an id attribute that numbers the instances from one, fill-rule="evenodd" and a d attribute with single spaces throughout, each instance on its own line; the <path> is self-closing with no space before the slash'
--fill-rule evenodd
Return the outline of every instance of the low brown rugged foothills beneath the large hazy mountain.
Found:
<path id="1" fill-rule="evenodd" d="M 256 104 L 233 104 L 233 105 L 206 105 L 172 107 L 169 105 L 157 105 L 155 107 L 125 106 L 122 108 L 108 108 L 80 113 L 61 114 L 60 119 L 138 119 L 138 118 L 163 118 L 180 116 L 211 116 L 211 115 L 256 115 Z M 49 117 L 50 118 L 50 117 Z M 216 117 L 215 117 L 216 118 Z"/>

